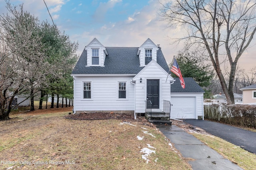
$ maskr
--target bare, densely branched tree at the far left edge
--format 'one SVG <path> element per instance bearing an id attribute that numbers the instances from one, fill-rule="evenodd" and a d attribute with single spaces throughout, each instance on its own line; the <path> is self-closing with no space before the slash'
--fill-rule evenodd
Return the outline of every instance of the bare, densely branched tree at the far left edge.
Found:
<path id="1" fill-rule="evenodd" d="M 9 119 L 12 101 L 19 94 L 34 95 L 45 85 L 49 64 L 45 62 L 41 37 L 35 31 L 37 18 L 10 3 L 6 8 L 11 15 L 0 16 L 2 40 L 0 51 L 0 119 Z M 31 91 L 33 90 L 33 91 Z"/>

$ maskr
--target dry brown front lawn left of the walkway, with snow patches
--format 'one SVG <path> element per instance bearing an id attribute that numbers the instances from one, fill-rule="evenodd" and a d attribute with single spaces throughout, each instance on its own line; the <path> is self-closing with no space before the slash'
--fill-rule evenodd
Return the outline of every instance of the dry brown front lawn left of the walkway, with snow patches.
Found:
<path id="1" fill-rule="evenodd" d="M 154 125 L 65 119 L 70 111 L 21 112 L 9 121 L 0 121 L 0 161 L 11 161 L 2 162 L 1 169 L 191 169 Z M 146 156 L 142 149 L 155 152 L 148 156 L 148 163 L 142 159 Z"/>

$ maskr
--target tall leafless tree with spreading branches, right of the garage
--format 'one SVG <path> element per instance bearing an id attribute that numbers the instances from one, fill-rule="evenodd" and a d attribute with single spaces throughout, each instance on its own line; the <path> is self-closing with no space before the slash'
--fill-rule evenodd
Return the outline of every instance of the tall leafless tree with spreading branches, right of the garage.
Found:
<path id="1" fill-rule="evenodd" d="M 161 3 L 161 15 L 170 26 L 183 26 L 187 42 L 202 47 L 210 58 L 228 104 L 234 104 L 234 78 L 238 59 L 250 45 L 256 31 L 254 0 L 174 0 Z M 229 62 L 225 82 L 221 63 Z"/>

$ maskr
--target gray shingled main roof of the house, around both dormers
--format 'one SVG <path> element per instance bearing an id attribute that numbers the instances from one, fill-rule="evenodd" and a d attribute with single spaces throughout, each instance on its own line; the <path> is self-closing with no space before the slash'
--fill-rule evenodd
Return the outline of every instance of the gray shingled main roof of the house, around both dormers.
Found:
<path id="1" fill-rule="evenodd" d="M 140 67 L 138 47 L 105 47 L 108 55 L 105 66 L 87 66 L 87 51 L 80 56 L 72 74 L 137 74 L 144 67 Z M 157 63 L 169 71 L 168 64 L 159 47 L 157 51 Z"/>

